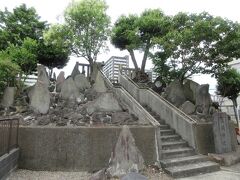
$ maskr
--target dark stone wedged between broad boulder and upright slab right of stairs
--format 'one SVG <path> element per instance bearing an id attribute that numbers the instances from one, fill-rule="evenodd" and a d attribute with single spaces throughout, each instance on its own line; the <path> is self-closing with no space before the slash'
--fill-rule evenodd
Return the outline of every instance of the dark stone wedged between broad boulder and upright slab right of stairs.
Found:
<path id="1" fill-rule="evenodd" d="M 187 79 L 183 86 L 185 97 L 187 98 L 188 101 L 191 101 L 192 103 L 195 104 L 197 89 L 200 85 L 195 81 Z"/>

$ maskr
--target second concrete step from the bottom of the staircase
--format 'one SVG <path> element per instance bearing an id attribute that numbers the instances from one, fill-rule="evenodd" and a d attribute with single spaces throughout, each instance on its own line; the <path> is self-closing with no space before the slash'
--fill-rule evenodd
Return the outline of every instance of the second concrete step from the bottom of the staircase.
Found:
<path id="1" fill-rule="evenodd" d="M 207 161 L 208 157 L 203 155 L 195 155 L 195 156 L 187 156 L 187 157 L 178 157 L 173 159 L 163 159 L 161 160 L 162 167 L 171 167 L 171 166 L 179 166 L 186 165 L 190 163 L 198 163 Z"/>

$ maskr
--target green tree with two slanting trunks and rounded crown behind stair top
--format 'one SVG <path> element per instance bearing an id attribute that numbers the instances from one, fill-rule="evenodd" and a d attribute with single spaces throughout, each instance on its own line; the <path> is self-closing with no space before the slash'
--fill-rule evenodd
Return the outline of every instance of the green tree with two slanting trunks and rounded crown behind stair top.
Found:
<path id="1" fill-rule="evenodd" d="M 141 71 L 144 72 L 150 49 L 156 44 L 156 38 L 164 36 L 170 30 L 170 18 L 159 9 L 146 10 L 140 16 L 121 16 L 114 24 L 111 42 L 120 50 L 128 50 L 135 69 L 138 65 L 134 50 L 144 52 Z"/>

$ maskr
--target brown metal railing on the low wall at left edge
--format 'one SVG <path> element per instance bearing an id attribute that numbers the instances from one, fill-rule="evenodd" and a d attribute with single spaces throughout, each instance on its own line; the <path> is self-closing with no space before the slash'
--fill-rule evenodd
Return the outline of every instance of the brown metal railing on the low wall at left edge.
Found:
<path id="1" fill-rule="evenodd" d="M 19 118 L 0 119 L 0 156 L 18 147 Z"/>

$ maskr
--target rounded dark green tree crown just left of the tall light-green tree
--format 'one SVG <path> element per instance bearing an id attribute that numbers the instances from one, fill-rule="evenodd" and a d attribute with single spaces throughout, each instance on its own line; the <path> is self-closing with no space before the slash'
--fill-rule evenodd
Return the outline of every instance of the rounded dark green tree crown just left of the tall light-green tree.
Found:
<path id="1" fill-rule="evenodd" d="M 63 68 L 69 60 L 70 46 L 68 28 L 53 25 L 44 32 L 43 41 L 39 43 L 38 62 L 49 69 Z"/>

